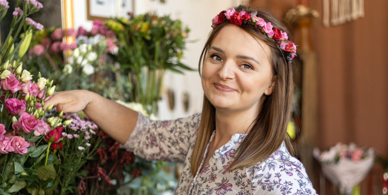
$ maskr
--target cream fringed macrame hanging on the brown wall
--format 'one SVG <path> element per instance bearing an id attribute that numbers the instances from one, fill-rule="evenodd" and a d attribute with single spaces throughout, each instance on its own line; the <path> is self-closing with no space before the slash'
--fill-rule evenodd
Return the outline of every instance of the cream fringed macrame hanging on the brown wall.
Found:
<path id="1" fill-rule="evenodd" d="M 337 26 L 364 17 L 364 0 L 323 0 L 323 25 Z"/>

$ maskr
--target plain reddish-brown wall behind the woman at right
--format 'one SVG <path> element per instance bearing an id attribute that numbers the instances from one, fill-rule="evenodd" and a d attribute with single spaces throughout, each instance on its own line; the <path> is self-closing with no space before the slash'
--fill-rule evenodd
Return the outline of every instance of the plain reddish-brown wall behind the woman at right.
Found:
<path id="1" fill-rule="evenodd" d="M 250 3 L 282 17 L 298 0 Z M 322 25 L 322 0 L 310 0 L 309 7 L 320 14 L 311 27 L 318 55 L 315 145 L 328 149 L 337 142 L 354 142 L 388 157 L 388 1 L 365 0 L 364 18 L 331 27 Z M 361 194 L 367 194 L 368 177 Z"/>

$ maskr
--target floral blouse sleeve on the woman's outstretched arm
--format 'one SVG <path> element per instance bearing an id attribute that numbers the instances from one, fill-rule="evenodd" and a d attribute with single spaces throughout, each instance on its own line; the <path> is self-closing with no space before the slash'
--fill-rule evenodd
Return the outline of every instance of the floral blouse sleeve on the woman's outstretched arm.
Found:
<path id="1" fill-rule="evenodd" d="M 147 160 L 184 162 L 196 135 L 201 113 L 176 120 L 155 121 L 139 113 L 133 132 L 121 148 Z"/>

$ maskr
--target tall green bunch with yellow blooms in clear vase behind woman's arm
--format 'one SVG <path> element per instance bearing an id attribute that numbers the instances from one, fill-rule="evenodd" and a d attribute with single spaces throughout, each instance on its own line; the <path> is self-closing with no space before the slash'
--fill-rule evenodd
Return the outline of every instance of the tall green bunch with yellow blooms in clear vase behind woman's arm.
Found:
<path id="1" fill-rule="evenodd" d="M 155 14 L 114 18 L 106 21 L 119 40 L 118 55 L 124 74 L 133 84 L 130 101 L 141 103 L 147 112 L 156 112 L 165 70 L 183 73 L 178 68 L 192 70 L 180 62 L 185 49 L 188 28 L 179 20 Z"/>

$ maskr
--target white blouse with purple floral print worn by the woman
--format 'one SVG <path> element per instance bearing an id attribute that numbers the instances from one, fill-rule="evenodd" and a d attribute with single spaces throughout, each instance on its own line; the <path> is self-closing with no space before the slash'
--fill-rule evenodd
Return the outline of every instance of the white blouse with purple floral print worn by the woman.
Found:
<path id="1" fill-rule="evenodd" d="M 175 195 L 316 194 L 305 168 L 288 153 L 284 142 L 264 162 L 228 172 L 245 134 L 234 134 L 193 178 L 190 161 L 200 118 L 197 113 L 177 120 L 152 121 L 139 113 L 135 129 L 121 147 L 148 160 L 184 162 Z M 200 167 L 206 154 L 207 149 Z"/>

